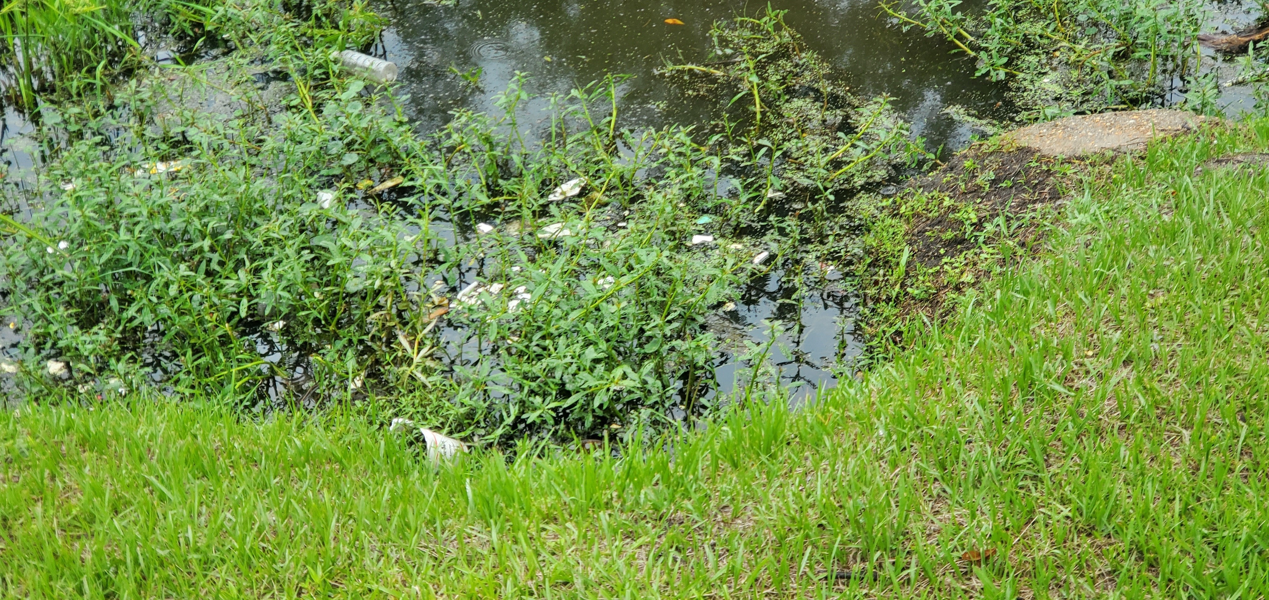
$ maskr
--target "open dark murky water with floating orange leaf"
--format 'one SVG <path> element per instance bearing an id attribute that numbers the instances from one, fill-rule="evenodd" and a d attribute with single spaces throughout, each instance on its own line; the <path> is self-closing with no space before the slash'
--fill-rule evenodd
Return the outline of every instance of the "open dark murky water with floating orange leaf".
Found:
<path id="1" fill-rule="evenodd" d="M 952 55 L 950 43 L 887 27 L 876 0 L 778 0 L 773 6 L 788 10 L 786 22 L 843 70 L 853 91 L 895 96 L 931 148 L 970 138 L 967 127 L 940 114 L 948 104 L 1008 117 L 1001 85 L 975 79 L 972 60 Z M 632 75 L 619 89 L 626 126 L 702 123 L 711 119 L 708 107 L 683 98 L 652 71 L 666 61 L 703 60 L 714 20 L 764 9 L 736 0 L 459 0 L 454 6 L 401 0 L 385 8 L 391 27 L 376 51 L 401 68 L 402 88 L 412 96 L 410 115 L 424 128 L 444 123 L 454 108 L 492 110 L 495 94 L 516 71 L 532 74 L 529 91 L 538 95 L 567 93 L 607 74 Z M 684 24 L 664 23 L 669 18 Z M 450 68 L 480 68 L 480 86 Z M 537 103 L 530 114 L 546 108 L 544 99 Z"/>

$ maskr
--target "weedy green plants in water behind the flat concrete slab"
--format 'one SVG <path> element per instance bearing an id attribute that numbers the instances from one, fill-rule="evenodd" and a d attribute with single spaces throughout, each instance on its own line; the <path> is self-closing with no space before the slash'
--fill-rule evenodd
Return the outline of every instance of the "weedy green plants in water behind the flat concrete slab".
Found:
<path id="1" fill-rule="evenodd" d="M 939 36 L 977 61 L 977 75 L 1009 81 L 1019 119 L 1159 105 L 1188 80 L 1188 103 L 1212 110 L 1199 79 L 1199 0 L 959 0 L 882 3 L 896 27 Z"/>

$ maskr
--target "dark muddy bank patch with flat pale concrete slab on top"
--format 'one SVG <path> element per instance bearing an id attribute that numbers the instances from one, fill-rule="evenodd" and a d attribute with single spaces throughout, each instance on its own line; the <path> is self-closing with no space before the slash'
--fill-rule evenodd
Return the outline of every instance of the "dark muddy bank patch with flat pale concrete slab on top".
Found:
<path id="1" fill-rule="evenodd" d="M 869 334 L 900 344 L 907 320 L 942 318 L 948 298 L 1030 256 L 1090 169 L 1217 123 L 1162 109 L 1067 117 L 976 143 L 893 197 L 862 197 L 871 223 L 859 265 Z M 1204 167 L 1260 161 L 1247 155 Z"/>

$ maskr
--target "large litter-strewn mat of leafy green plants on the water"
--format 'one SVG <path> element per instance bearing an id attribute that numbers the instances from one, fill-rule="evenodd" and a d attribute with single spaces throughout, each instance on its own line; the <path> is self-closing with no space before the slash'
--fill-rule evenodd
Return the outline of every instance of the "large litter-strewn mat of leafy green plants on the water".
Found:
<path id="1" fill-rule="evenodd" d="M 793 79 L 699 140 L 618 127 L 619 77 L 527 132 L 518 76 L 420 136 L 331 62 L 372 18 L 256 9 L 227 19 L 277 27 L 228 57 L 41 108 L 61 146 L 0 249 L 24 393 L 378 397 L 482 444 L 673 426 L 720 401 L 706 316 L 750 278 L 854 259 L 832 208 L 920 156 L 884 99 L 830 93 L 782 13 L 716 49 Z"/>

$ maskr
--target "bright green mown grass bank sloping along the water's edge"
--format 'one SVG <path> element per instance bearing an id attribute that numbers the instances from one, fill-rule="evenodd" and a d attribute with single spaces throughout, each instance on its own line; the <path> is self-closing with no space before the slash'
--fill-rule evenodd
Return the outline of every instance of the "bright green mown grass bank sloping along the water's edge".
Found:
<path id="1" fill-rule="evenodd" d="M 1266 145 L 1256 122 L 1099 170 L 1046 252 L 863 382 L 624 458 L 433 467 L 364 414 L 23 406 L 0 590 L 1265 596 L 1269 174 L 1194 167 Z"/>

